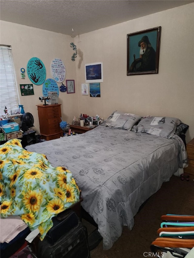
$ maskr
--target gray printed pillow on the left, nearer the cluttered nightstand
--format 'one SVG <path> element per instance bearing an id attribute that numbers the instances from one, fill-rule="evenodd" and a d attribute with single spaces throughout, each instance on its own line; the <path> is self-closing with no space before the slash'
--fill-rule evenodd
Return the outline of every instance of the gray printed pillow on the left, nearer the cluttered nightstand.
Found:
<path id="1" fill-rule="evenodd" d="M 131 131 L 132 127 L 138 122 L 142 116 L 131 113 L 124 113 L 118 110 L 114 111 L 105 121 L 105 125 L 118 129 Z"/>

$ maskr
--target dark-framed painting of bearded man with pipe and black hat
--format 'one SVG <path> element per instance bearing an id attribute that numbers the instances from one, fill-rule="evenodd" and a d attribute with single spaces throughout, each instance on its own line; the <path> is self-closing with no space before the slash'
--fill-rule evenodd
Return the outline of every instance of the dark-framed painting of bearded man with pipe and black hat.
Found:
<path id="1" fill-rule="evenodd" d="M 158 73 L 161 26 L 127 34 L 127 75 Z"/>

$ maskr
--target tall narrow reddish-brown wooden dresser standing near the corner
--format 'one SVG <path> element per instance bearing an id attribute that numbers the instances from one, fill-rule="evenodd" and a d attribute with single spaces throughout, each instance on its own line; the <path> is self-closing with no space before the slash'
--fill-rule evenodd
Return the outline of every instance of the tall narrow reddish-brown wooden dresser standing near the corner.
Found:
<path id="1" fill-rule="evenodd" d="M 37 105 L 41 138 L 47 141 L 60 138 L 63 131 L 61 122 L 61 104 Z"/>

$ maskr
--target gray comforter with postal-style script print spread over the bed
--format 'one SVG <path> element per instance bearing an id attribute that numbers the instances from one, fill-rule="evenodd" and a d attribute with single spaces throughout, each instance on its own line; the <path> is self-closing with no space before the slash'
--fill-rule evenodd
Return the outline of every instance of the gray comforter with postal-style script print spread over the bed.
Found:
<path id="1" fill-rule="evenodd" d="M 166 139 L 103 125 L 26 148 L 72 172 L 105 250 L 121 236 L 123 226 L 132 229 L 141 204 L 187 166 L 184 143 L 176 135 Z"/>

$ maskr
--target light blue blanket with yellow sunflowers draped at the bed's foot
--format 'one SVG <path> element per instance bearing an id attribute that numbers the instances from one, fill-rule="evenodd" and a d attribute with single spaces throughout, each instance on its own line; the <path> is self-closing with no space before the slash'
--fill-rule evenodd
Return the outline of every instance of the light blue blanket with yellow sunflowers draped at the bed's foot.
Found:
<path id="1" fill-rule="evenodd" d="M 52 167 L 44 154 L 28 152 L 21 140 L 0 146 L 1 217 L 19 215 L 43 240 L 52 217 L 79 201 L 79 188 L 72 173 Z"/>

